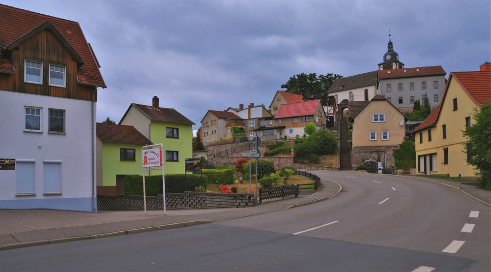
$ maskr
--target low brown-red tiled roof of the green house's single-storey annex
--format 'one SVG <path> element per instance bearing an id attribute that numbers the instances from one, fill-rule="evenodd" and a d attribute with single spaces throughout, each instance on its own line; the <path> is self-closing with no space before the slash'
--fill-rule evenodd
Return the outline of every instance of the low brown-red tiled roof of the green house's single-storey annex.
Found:
<path id="1" fill-rule="evenodd" d="M 140 131 L 132 125 L 97 123 L 97 138 L 102 142 L 151 145 Z"/>

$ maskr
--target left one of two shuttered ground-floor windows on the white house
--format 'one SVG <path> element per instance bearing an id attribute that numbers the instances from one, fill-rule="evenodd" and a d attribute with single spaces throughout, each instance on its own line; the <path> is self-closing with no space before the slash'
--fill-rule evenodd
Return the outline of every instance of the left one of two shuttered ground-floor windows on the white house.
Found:
<path id="1" fill-rule="evenodd" d="M 17 195 L 35 195 L 35 160 L 15 161 Z"/>

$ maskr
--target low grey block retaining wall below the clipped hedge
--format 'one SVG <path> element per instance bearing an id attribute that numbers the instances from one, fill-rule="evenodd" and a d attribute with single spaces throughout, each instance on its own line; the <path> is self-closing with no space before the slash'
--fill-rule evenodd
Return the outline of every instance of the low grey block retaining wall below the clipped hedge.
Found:
<path id="1" fill-rule="evenodd" d="M 147 196 L 148 210 L 163 209 L 162 195 Z M 214 208 L 244 208 L 258 205 L 253 194 L 223 194 L 206 192 L 167 193 L 167 209 L 214 209 Z M 143 210 L 143 196 L 137 195 L 97 195 L 99 210 Z"/>

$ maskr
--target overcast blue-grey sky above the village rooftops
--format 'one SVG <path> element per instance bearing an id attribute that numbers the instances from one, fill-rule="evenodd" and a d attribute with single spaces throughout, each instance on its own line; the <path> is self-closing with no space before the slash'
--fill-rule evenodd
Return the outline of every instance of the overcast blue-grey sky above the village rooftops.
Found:
<path id="1" fill-rule="evenodd" d="M 108 86 L 97 121 L 154 95 L 194 128 L 208 109 L 267 107 L 292 75 L 376 70 L 389 28 L 405 67 L 490 61 L 489 0 L 2 2 L 80 23 Z"/>

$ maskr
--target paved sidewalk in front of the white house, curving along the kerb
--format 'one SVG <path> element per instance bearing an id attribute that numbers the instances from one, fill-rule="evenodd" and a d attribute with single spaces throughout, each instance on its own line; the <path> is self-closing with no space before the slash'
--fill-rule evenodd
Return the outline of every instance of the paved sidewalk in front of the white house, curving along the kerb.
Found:
<path id="1" fill-rule="evenodd" d="M 322 180 L 322 189 L 310 195 L 267 202 L 250 208 L 163 211 L 70 212 L 55 210 L 0 210 L 1 250 L 170 229 L 231 218 L 275 212 L 335 196 L 341 186 Z"/>

